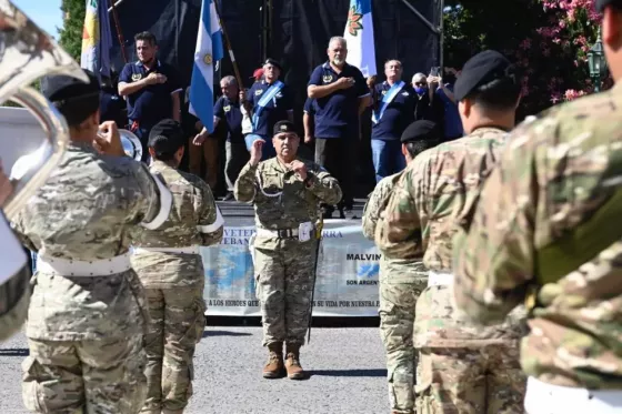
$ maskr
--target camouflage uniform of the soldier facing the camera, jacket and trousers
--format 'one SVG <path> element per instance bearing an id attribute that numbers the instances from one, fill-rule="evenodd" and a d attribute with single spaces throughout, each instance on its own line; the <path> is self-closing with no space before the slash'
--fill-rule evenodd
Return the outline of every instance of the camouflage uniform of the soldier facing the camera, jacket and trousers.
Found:
<path id="1" fill-rule="evenodd" d="M 317 223 L 320 202 L 337 204 L 341 199 L 334 178 L 312 162 L 300 161 L 311 176 L 308 188 L 277 158 L 254 166 L 248 163 L 235 182 L 235 199 L 254 203 L 258 234 L 251 249 L 264 346 L 304 343 L 318 240 L 313 231 L 309 241 L 299 241 L 299 225 Z"/>

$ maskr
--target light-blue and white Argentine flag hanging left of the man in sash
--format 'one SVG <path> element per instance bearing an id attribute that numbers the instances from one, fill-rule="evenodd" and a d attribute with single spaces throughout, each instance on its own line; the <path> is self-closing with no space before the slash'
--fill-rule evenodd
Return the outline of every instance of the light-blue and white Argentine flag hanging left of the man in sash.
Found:
<path id="1" fill-rule="evenodd" d="M 190 113 L 213 132 L 213 68 L 222 59 L 222 31 L 213 0 L 203 0 L 190 81 Z"/>

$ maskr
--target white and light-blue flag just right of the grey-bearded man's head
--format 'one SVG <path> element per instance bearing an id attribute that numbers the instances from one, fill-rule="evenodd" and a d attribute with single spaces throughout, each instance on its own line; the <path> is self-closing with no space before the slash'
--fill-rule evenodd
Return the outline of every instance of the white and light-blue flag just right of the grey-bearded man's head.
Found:
<path id="1" fill-rule="evenodd" d="M 377 74 L 371 0 L 350 0 L 343 38 L 348 42 L 345 61 L 359 68 L 365 78 Z"/>

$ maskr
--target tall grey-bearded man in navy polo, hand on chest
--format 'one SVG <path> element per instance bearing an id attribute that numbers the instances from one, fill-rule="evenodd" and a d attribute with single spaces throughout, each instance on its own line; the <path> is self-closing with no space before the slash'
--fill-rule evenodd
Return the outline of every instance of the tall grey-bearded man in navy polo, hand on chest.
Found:
<path id="1" fill-rule="evenodd" d="M 327 53 L 329 61 L 313 70 L 307 93 L 315 100 L 315 163 L 339 180 L 343 199 L 338 209 L 345 218 L 354 204 L 359 115 L 369 107 L 371 93 L 361 71 L 345 62 L 345 39 L 332 38 Z M 332 205 L 322 209 L 325 218 L 332 216 Z"/>

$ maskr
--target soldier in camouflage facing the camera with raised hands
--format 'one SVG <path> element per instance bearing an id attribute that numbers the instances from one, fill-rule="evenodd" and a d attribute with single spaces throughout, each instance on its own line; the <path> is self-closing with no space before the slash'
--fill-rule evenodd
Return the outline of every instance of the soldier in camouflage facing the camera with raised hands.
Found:
<path id="1" fill-rule="evenodd" d="M 300 380 L 300 347 L 309 325 L 319 235 L 319 203 L 337 204 L 338 181 L 321 166 L 297 156 L 300 138 L 293 124 L 274 125 L 277 156 L 259 162 L 262 140 L 251 148 L 251 160 L 235 182 L 235 199 L 254 203 L 257 238 L 251 243 L 261 302 L 263 345 L 269 361 L 267 378 L 283 373 L 285 342 L 288 377 Z"/>

